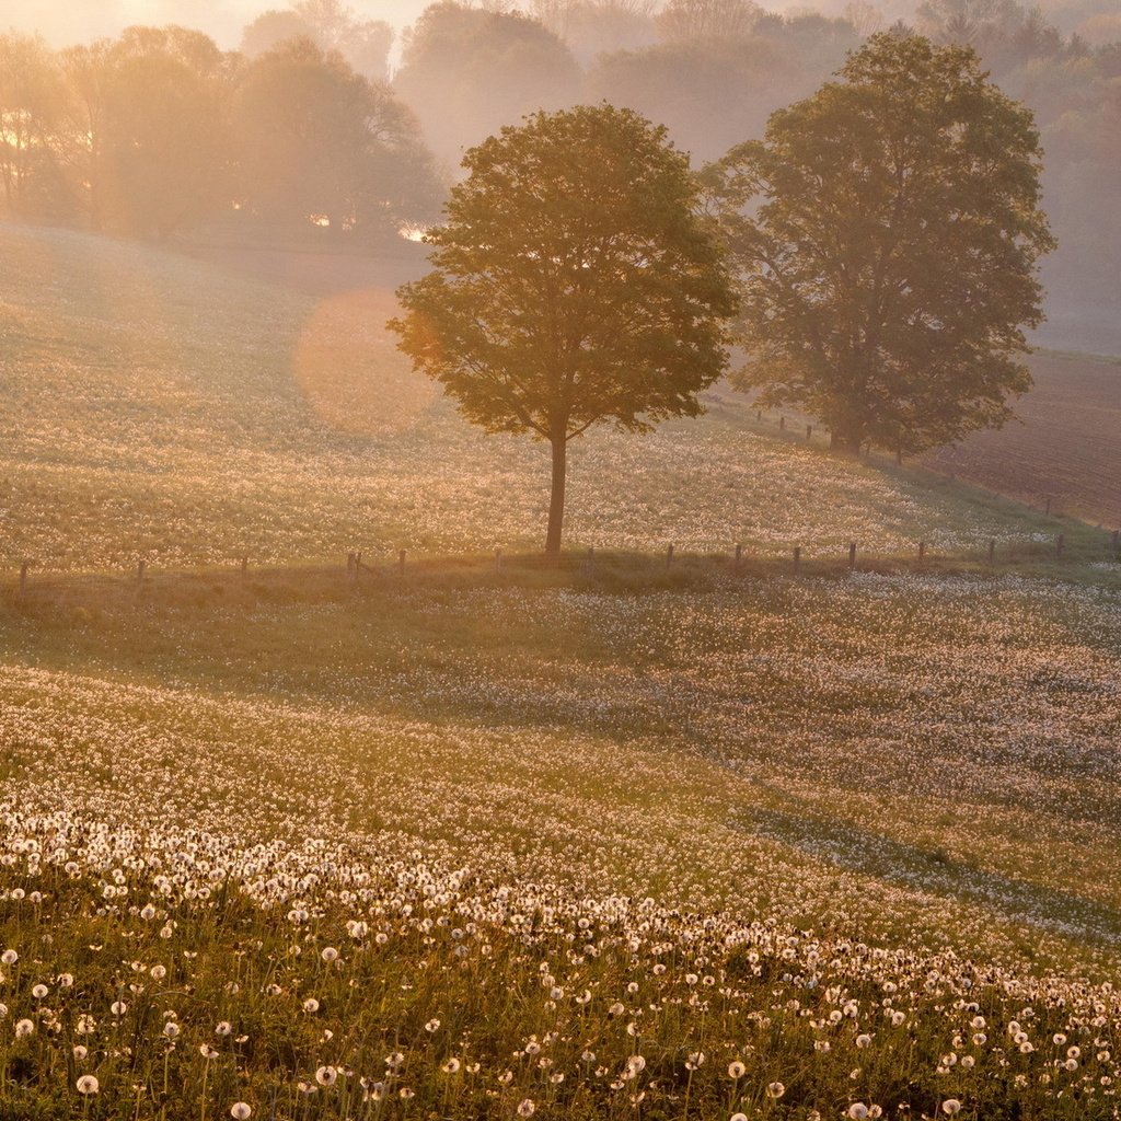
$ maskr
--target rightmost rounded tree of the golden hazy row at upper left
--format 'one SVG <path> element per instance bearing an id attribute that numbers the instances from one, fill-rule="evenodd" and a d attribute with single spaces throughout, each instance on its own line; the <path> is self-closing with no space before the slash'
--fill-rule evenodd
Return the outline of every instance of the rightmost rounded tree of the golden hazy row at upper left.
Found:
<path id="1" fill-rule="evenodd" d="M 396 230 L 436 216 L 442 188 L 413 113 L 389 86 L 309 39 L 245 71 L 234 99 L 240 195 L 274 222 Z"/>

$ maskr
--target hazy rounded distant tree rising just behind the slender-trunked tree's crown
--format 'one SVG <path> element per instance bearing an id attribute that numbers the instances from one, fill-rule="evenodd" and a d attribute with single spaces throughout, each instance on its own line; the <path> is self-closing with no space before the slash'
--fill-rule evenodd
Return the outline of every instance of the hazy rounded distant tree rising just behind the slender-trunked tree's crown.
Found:
<path id="1" fill-rule="evenodd" d="M 395 87 L 442 159 L 503 124 L 578 100 L 572 52 L 536 20 L 443 0 L 406 33 Z"/>

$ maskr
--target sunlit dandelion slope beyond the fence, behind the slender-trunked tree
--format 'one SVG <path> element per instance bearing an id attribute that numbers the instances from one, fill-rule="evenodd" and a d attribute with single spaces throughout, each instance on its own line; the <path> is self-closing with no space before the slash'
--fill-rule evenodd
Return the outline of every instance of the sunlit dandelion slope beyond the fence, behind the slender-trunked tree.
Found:
<path id="1" fill-rule="evenodd" d="M 173 253 L 0 226 L 0 565 L 334 560 L 537 545 L 547 454 L 460 420 L 383 331 L 386 291 L 316 299 Z M 576 547 L 753 555 L 1049 539 L 1010 504 L 773 438 L 736 395 L 573 448 Z"/>

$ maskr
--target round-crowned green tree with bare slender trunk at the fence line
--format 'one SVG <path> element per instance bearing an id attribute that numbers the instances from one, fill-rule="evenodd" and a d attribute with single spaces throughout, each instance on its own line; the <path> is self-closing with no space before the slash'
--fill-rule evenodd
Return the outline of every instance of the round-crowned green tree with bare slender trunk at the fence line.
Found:
<path id="1" fill-rule="evenodd" d="M 398 291 L 390 327 L 469 420 L 550 445 L 555 557 L 568 443 L 696 416 L 734 295 L 687 157 L 637 113 L 536 113 L 464 166 L 427 239 L 433 271 Z"/>

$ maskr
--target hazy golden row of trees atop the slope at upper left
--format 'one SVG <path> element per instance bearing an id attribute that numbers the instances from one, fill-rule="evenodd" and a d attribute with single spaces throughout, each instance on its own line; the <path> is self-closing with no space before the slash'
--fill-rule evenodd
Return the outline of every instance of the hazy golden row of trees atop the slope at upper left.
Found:
<path id="1" fill-rule="evenodd" d="M 0 182 L 16 217 L 156 239 L 233 212 L 377 239 L 444 193 L 413 112 L 337 50 L 300 35 L 249 58 L 180 27 L 0 36 Z"/>

